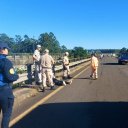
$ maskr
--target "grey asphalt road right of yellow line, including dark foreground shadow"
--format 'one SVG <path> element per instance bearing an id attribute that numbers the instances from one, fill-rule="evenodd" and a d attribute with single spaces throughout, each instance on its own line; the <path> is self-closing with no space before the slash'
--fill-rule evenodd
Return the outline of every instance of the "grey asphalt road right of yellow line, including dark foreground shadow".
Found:
<path id="1" fill-rule="evenodd" d="M 11 128 L 128 128 L 128 65 L 105 57 Z"/>

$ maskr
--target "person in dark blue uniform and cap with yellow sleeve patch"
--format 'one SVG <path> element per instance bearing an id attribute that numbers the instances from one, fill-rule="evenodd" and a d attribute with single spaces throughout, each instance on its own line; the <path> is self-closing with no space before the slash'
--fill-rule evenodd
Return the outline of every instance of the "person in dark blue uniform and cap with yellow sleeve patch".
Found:
<path id="1" fill-rule="evenodd" d="M 19 76 L 15 73 L 13 64 L 6 58 L 9 47 L 6 43 L 0 43 L 0 113 L 2 111 L 1 128 L 9 128 L 14 96 L 12 82 Z"/>

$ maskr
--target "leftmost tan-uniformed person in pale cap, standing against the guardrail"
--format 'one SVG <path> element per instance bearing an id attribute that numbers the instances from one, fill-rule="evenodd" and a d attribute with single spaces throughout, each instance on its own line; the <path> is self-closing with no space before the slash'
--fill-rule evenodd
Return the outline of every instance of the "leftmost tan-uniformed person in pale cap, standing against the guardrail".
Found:
<path id="1" fill-rule="evenodd" d="M 35 82 L 37 85 L 40 85 L 42 82 L 41 78 L 41 67 L 40 67 L 40 51 L 41 51 L 41 45 L 36 46 L 36 50 L 33 54 L 33 59 L 35 63 Z"/>

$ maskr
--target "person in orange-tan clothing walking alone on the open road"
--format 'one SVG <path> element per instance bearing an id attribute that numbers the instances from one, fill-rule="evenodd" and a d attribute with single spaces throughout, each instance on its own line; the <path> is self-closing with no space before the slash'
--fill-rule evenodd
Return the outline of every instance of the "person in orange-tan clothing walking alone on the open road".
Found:
<path id="1" fill-rule="evenodd" d="M 98 58 L 96 57 L 96 54 L 93 53 L 91 55 L 91 75 L 90 75 L 90 77 L 93 79 L 98 79 L 98 65 L 99 65 Z"/>

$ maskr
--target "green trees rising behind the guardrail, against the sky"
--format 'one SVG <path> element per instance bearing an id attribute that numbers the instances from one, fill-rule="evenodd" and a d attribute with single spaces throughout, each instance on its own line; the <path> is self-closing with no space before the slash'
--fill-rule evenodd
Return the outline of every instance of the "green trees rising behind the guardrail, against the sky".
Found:
<path id="1" fill-rule="evenodd" d="M 36 49 L 36 45 L 40 44 L 42 46 L 42 51 L 47 48 L 51 54 L 63 54 L 68 51 L 70 56 L 74 58 L 87 56 L 87 50 L 83 47 L 67 49 L 65 45 L 61 46 L 52 32 L 42 33 L 39 35 L 38 39 L 30 38 L 28 35 L 24 35 L 23 37 L 15 35 L 15 37 L 12 38 L 5 33 L 1 33 L 0 43 L 1 42 L 6 42 L 9 45 L 11 53 L 33 53 Z"/>

